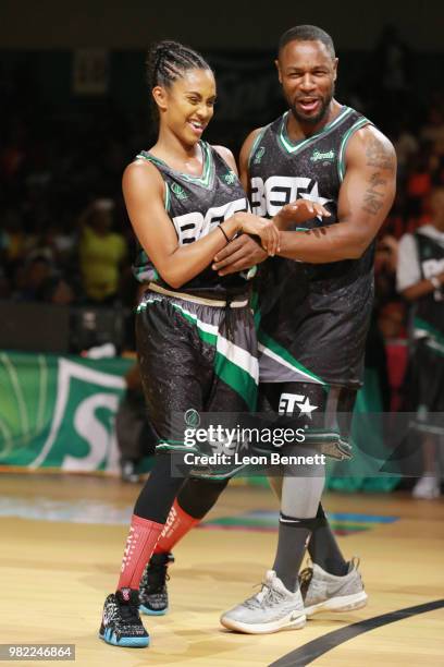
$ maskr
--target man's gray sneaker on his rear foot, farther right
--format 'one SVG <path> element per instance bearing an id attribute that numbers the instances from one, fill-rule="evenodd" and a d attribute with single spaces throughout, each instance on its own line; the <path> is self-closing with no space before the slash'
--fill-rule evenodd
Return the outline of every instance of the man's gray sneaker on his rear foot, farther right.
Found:
<path id="1" fill-rule="evenodd" d="M 359 560 L 353 558 L 344 577 L 329 574 L 313 563 L 299 574 L 300 592 L 307 617 L 318 611 L 350 611 L 367 605 Z"/>

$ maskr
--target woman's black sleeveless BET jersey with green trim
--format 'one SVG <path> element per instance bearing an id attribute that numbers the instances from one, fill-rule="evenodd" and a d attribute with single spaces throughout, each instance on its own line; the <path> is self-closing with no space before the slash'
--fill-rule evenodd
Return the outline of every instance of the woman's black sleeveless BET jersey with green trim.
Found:
<path id="1" fill-rule="evenodd" d="M 177 234 L 180 245 L 207 235 L 218 225 L 239 210 L 248 209 L 245 191 L 237 175 L 206 142 L 200 142 L 203 156 L 201 177 L 181 173 L 159 158 L 143 150 L 137 157 L 155 165 L 165 183 L 165 210 Z M 157 282 L 169 288 L 156 271 L 143 248 L 133 265 L 140 282 Z M 181 292 L 209 295 L 239 294 L 246 291 L 244 275 L 220 277 L 209 265 L 199 276 L 181 287 Z"/>

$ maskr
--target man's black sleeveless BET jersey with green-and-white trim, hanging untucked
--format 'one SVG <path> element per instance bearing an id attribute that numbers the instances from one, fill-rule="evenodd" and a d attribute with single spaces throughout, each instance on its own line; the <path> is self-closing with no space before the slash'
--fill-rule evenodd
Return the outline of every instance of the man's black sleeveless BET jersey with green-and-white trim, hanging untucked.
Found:
<path id="1" fill-rule="evenodd" d="M 287 112 L 288 113 L 288 112 Z M 252 213 L 271 218 L 297 198 L 319 202 L 337 222 L 347 142 L 366 118 L 348 107 L 320 132 L 292 142 L 287 113 L 264 128 L 250 154 Z M 269 258 L 258 306 L 261 381 L 314 381 L 358 387 L 373 299 L 373 247 L 359 259 L 305 264 Z"/>

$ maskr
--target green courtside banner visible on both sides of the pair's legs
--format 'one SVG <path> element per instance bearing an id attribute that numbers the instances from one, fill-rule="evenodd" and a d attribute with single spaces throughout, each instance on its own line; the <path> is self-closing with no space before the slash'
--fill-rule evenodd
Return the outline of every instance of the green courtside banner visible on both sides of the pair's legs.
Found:
<path id="1" fill-rule="evenodd" d="M 0 352 L 0 468 L 118 472 L 114 417 L 125 389 L 123 375 L 133 363 Z M 354 458 L 329 465 L 330 488 L 390 490 L 396 485 L 396 476 L 379 474 L 383 438 L 370 422 L 371 413 L 382 411 L 379 393 L 375 373 L 367 371 L 355 411 L 360 419 L 353 428 Z M 362 439 L 371 456 L 359 447 Z M 144 461 L 143 470 L 148 468 Z"/>

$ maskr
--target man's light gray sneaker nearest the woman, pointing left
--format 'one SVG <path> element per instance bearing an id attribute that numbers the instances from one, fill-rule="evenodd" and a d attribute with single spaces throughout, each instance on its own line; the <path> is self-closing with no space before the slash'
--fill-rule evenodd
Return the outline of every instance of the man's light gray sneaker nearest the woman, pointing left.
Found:
<path id="1" fill-rule="evenodd" d="M 221 616 L 221 623 L 229 630 L 248 634 L 304 628 L 306 616 L 300 591 L 291 593 L 276 573 L 269 570 L 260 592 L 225 611 Z"/>

